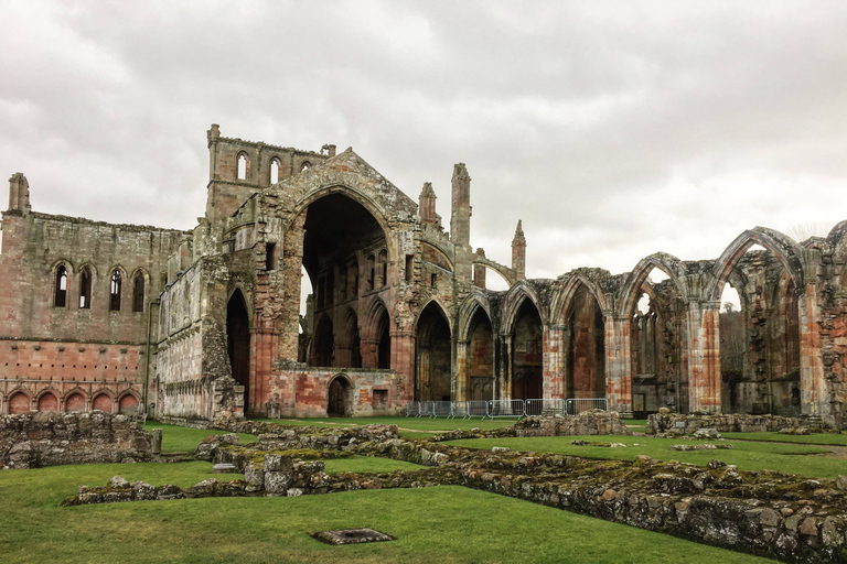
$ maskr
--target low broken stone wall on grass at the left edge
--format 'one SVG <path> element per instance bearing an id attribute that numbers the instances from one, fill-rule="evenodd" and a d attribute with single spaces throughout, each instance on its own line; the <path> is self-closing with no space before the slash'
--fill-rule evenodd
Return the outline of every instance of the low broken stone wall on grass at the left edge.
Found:
<path id="1" fill-rule="evenodd" d="M 0 417 L 3 468 L 149 460 L 150 434 L 125 415 L 30 412 Z"/>

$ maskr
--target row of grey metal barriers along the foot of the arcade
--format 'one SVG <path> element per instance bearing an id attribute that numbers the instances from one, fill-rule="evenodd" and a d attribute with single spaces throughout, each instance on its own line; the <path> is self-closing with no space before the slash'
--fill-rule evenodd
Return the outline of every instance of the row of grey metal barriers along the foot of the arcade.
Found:
<path id="1" fill-rule="evenodd" d="M 609 410 L 605 398 L 568 400 L 489 400 L 489 401 L 410 401 L 407 417 L 532 417 L 537 415 L 578 415 L 583 411 Z"/>

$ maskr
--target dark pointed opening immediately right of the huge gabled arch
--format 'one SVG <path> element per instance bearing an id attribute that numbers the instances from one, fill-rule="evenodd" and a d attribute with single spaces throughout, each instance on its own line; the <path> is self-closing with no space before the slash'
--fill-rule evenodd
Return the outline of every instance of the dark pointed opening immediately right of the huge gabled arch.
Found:
<path id="1" fill-rule="evenodd" d="M 450 325 L 441 307 L 430 302 L 418 318 L 415 397 L 421 401 L 450 401 L 452 355 Z"/>

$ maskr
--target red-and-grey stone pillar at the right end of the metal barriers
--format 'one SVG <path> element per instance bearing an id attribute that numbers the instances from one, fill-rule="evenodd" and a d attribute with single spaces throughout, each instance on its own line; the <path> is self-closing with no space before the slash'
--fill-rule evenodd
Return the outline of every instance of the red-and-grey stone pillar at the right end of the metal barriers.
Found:
<path id="1" fill-rule="evenodd" d="M 605 316 L 605 397 L 609 409 L 632 416 L 630 318 Z"/>

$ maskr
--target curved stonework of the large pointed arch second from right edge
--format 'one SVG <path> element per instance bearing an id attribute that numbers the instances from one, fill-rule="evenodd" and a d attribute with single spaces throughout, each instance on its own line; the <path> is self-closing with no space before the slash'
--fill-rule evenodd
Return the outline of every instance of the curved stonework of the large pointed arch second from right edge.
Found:
<path id="1" fill-rule="evenodd" d="M 709 302 L 720 300 L 723 284 L 729 281 L 732 269 L 753 245 L 761 245 L 771 251 L 794 280 L 794 285 L 805 288 L 803 262 L 801 261 L 803 249 L 794 239 L 775 229 L 754 227 L 736 237 L 736 240 L 715 261 L 711 276 L 704 289 L 704 300 Z"/>

